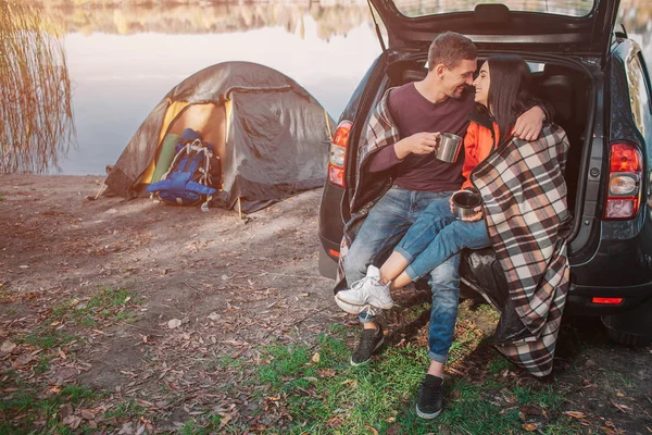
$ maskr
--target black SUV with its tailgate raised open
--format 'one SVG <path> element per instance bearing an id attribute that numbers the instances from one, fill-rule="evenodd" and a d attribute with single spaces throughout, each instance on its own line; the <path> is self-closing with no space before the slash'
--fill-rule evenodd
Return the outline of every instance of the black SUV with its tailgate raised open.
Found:
<path id="1" fill-rule="evenodd" d="M 615 25 L 619 0 L 505 0 L 475 8 L 472 1 L 371 1 L 387 28 L 388 47 L 377 25 L 383 53 L 334 135 L 319 210 L 319 272 L 335 278 L 344 222 L 369 197 L 356 191 L 356 157 L 372 110 L 389 87 L 425 77 L 430 41 L 453 30 L 476 44 L 479 63 L 493 53 L 526 59 L 537 91 L 568 135 L 566 182 L 574 215 L 568 310 L 601 315 L 616 341 L 648 343 L 652 98 L 639 46 Z M 480 293 L 504 285 L 500 265 L 487 256 L 490 249 L 466 252 L 461 266 L 463 283 Z"/>

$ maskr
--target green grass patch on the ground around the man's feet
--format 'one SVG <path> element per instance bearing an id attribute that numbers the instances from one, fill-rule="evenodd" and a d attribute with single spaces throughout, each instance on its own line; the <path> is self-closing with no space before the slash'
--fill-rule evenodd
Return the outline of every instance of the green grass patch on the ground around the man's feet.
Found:
<path id="1" fill-rule="evenodd" d="M 487 362 L 484 381 L 447 381 L 444 412 L 435 421 L 425 421 L 414 410 L 416 390 L 428 364 L 424 349 L 411 345 L 388 348 L 373 364 L 353 368 L 349 364 L 350 350 L 338 337 L 344 332 L 339 326 L 329 327 L 329 332 L 333 335 L 321 335 L 314 347 L 276 345 L 263 352 L 264 362 L 258 366 L 254 382 L 264 386 L 261 401 L 281 400 L 291 415 L 283 433 L 522 433 L 519 408 L 525 406 L 546 410 L 541 433 L 580 432 L 561 412 L 565 396 L 559 386 L 522 386 L 511 377 L 503 378 L 501 373 L 511 365 L 502 357 Z M 461 344 L 460 358 L 473 351 L 464 343 L 480 341 L 468 334 L 456 340 Z"/>

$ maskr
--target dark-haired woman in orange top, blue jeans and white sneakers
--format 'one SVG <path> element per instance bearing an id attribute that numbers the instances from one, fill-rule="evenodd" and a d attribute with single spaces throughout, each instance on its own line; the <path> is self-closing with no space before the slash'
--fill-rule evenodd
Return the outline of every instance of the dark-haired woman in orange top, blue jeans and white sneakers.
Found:
<path id="1" fill-rule="evenodd" d="M 465 182 L 462 189 L 478 192 L 473 182 L 476 166 L 494 150 L 516 147 L 511 140 L 511 130 L 517 116 L 532 105 L 530 82 L 531 73 L 521 57 L 493 55 L 482 64 L 474 80 L 477 110 L 469 116 L 471 124 L 464 138 Z M 561 130 L 556 126 L 554 128 Z M 562 154 L 563 166 L 565 152 Z M 565 208 L 565 185 L 561 187 L 564 192 L 562 208 Z M 463 248 L 479 249 L 492 245 L 484 207 L 478 207 L 469 217 L 455 220 L 452 197 L 432 202 L 410 227 L 379 271 L 369 265 L 365 278 L 351 289 L 339 291 L 336 297 L 354 306 L 391 308 L 390 289 L 403 287 L 426 275 Z M 563 212 L 567 214 L 567 210 Z"/>

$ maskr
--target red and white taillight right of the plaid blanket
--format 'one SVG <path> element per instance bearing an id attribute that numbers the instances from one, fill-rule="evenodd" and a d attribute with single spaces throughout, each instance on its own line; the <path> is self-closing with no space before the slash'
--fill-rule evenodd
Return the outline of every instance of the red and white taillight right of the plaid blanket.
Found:
<path id="1" fill-rule="evenodd" d="M 638 213 L 642 158 L 631 144 L 612 144 L 605 220 L 631 219 Z"/>

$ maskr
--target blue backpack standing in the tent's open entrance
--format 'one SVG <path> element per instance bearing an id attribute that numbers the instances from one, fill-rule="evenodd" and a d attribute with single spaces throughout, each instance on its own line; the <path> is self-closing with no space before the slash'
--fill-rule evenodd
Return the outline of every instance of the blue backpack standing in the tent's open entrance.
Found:
<path id="1" fill-rule="evenodd" d="M 212 185 L 220 182 L 220 158 L 213 154 L 213 146 L 202 142 L 199 133 L 186 128 L 175 146 L 170 170 L 147 191 L 175 206 L 205 206 L 217 191 Z"/>

